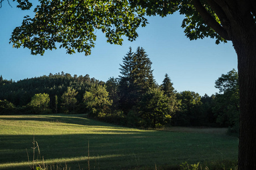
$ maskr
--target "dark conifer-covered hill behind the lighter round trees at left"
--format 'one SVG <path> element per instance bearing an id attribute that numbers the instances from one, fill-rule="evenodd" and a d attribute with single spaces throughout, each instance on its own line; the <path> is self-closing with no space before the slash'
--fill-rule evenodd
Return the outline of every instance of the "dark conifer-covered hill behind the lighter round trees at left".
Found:
<path id="1" fill-rule="evenodd" d="M 16 107 L 22 107 L 30 103 L 31 97 L 35 94 L 49 94 L 50 108 L 56 111 L 57 96 L 58 103 L 57 110 L 60 111 L 60 99 L 68 87 L 74 88 L 78 94 L 76 96 L 78 104 L 82 103 L 83 94 L 94 84 L 104 84 L 104 82 L 90 78 L 89 75 L 72 77 L 70 74 L 58 73 L 43 75 L 40 77 L 23 79 L 18 82 L 5 80 L 5 83 L 0 86 L 0 100 L 7 100 L 13 103 Z"/>

